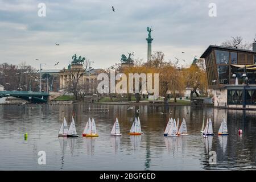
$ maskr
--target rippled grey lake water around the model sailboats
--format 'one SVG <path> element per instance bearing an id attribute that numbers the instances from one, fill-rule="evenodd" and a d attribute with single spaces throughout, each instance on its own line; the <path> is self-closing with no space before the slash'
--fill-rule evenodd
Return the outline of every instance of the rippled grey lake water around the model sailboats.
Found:
<path id="1" fill-rule="evenodd" d="M 47 152 L 47 169 L 256 169 L 256 111 L 138 105 L 127 110 L 128 107 L 1 105 L 0 169 L 38 168 L 37 154 L 41 150 Z M 72 115 L 80 137 L 57 138 L 64 117 L 70 125 Z M 129 136 L 133 119 L 138 116 L 144 135 Z M 98 138 L 81 137 L 89 117 L 96 121 Z M 123 137 L 110 137 L 116 117 Z M 163 137 L 171 117 L 180 121 L 185 118 L 188 136 Z M 213 137 L 201 137 L 203 117 L 212 119 L 216 134 Z M 228 136 L 217 135 L 222 118 L 227 121 Z M 239 129 L 243 135 L 238 135 Z M 26 141 L 24 133 L 28 133 Z M 210 151 L 216 151 L 216 165 L 208 162 Z"/>

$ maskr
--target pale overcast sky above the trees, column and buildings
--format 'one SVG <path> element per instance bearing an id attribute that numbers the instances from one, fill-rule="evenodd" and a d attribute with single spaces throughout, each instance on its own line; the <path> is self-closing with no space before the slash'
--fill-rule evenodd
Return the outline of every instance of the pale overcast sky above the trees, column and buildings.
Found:
<path id="1" fill-rule="evenodd" d="M 46 17 L 38 16 L 39 3 L 46 4 Z M 209 3 L 216 3 L 217 17 L 208 15 Z M 230 36 L 252 42 L 255 18 L 255 0 L 0 0 L 0 63 L 62 69 L 76 53 L 94 61 L 94 68 L 108 68 L 127 52 L 146 61 L 152 26 L 152 52 L 188 65 Z"/>

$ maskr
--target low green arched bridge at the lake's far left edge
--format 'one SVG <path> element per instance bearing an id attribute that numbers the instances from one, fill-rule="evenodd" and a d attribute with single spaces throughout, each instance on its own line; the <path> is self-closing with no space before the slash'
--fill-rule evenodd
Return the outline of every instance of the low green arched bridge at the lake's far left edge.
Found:
<path id="1" fill-rule="evenodd" d="M 47 92 L 32 92 L 32 91 L 0 91 L 2 97 L 17 97 L 31 103 L 46 103 L 49 93 Z"/>

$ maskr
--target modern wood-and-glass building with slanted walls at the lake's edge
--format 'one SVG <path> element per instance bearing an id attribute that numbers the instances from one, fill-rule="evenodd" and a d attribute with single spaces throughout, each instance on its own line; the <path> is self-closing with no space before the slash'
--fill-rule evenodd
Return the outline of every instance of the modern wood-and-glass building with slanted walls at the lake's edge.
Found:
<path id="1" fill-rule="evenodd" d="M 256 109 L 256 42 L 253 51 L 209 46 L 201 58 L 215 106 Z"/>

